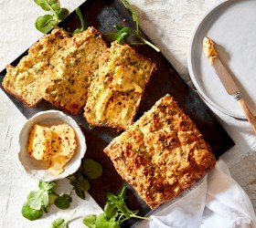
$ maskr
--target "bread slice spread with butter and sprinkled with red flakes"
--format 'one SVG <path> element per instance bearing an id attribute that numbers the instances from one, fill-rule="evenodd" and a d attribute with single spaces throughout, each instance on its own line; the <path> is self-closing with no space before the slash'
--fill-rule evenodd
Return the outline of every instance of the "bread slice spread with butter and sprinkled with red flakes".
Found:
<path id="1" fill-rule="evenodd" d="M 84 117 L 92 126 L 126 130 L 133 124 L 155 63 L 116 41 L 102 55 Z"/>

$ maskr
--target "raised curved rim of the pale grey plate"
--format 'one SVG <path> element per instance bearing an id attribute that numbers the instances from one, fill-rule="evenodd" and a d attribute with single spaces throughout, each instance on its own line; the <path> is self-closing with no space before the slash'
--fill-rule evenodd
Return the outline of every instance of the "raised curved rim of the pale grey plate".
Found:
<path id="1" fill-rule="evenodd" d="M 237 114 L 232 113 L 232 111 L 230 111 L 229 109 L 223 109 L 217 103 L 213 102 L 210 98 L 208 98 L 208 96 L 205 94 L 203 89 L 200 88 L 200 86 L 198 85 L 197 77 L 196 77 L 196 74 L 194 74 L 193 66 L 192 66 L 192 56 L 193 56 L 192 48 L 195 43 L 195 36 L 197 35 L 199 26 L 201 26 L 201 24 L 207 19 L 207 17 L 211 13 L 213 13 L 213 11 L 217 10 L 222 5 L 225 5 L 227 3 L 233 4 L 234 2 L 237 2 L 237 0 L 220 0 L 217 4 L 209 7 L 208 10 L 202 16 L 199 17 L 199 19 L 197 20 L 197 24 L 193 27 L 190 38 L 189 38 L 189 44 L 188 44 L 188 50 L 187 50 L 187 68 L 188 68 L 189 76 L 190 76 L 195 88 L 197 88 L 199 95 L 203 98 L 203 100 L 205 101 L 205 103 L 207 105 L 210 105 L 210 106 L 214 107 L 215 109 L 218 109 L 223 114 L 229 115 L 230 117 L 237 118 L 237 119 L 246 119 L 245 115 L 237 115 Z M 229 96 L 228 93 L 227 93 L 227 96 Z"/>

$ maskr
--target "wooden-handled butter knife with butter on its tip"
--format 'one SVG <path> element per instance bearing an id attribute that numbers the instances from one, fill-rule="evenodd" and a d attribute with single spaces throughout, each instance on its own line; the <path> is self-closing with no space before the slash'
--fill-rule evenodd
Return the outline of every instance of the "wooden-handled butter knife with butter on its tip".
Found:
<path id="1" fill-rule="evenodd" d="M 215 48 L 214 42 L 208 37 L 203 39 L 203 49 L 206 56 L 209 58 L 209 62 L 214 67 L 217 76 L 222 82 L 224 88 L 226 88 L 229 95 L 236 99 L 240 108 L 243 110 L 246 118 L 251 123 L 251 127 L 256 134 L 256 117 L 253 116 L 251 109 L 249 108 L 246 100 L 241 97 L 240 89 L 232 76 L 229 74 L 227 68 L 221 62 Z"/>

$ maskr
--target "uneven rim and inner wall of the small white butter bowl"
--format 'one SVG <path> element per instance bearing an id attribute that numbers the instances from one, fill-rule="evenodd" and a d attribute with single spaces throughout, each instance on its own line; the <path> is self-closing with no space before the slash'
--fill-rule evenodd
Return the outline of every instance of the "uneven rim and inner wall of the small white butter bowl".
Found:
<path id="1" fill-rule="evenodd" d="M 51 115 L 52 115 L 52 119 L 50 118 Z M 57 176 L 49 175 L 47 174 L 47 170 L 46 170 L 45 171 L 46 176 L 43 176 L 43 175 L 37 174 L 37 171 L 29 169 L 29 166 L 25 165 L 25 161 L 23 161 L 24 160 L 23 154 L 27 152 L 27 148 L 25 148 L 25 145 L 27 145 L 27 142 L 25 142 L 23 134 L 24 134 L 24 131 L 27 131 L 27 129 L 31 130 L 32 126 L 34 126 L 37 123 L 40 123 L 46 120 L 50 121 L 54 119 L 58 122 L 68 123 L 75 130 L 76 138 L 77 140 L 79 140 L 79 144 L 80 144 L 80 148 L 76 150 L 76 153 L 79 153 L 79 155 L 77 158 L 73 157 L 72 159 L 76 159 L 76 160 L 72 161 L 71 159 L 67 164 L 67 166 L 65 166 L 64 171 L 61 172 L 59 175 Z M 30 130 L 28 130 L 28 132 L 30 132 Z M 26 136 L 26 139 L 27 137 L 28 136 Z M 74 172 L 78 171 L 81 165 L 81 161 L 84 158 L 84 155 L 87 150 L 85 136 L 82 130 L 80 129 L 80 126 L 77 123 L 77 121 L 75 119 L 72 119 L 70 116 L 68 116 L 64 112 L 59 110 L 54 110 L 54 109 L 37 112 L 37 114 L 35 114 L 33 117 L 27 119 L 27 121 L 25 122 L 25 124 L 23 125 L 22 129 L 19 132 L 18 143 L 19 143 L 18 161 L 20 165 L 30 177 L 38 180 L 42 180 L 42 181 L 61 180 L 73 174 Z M 31 158 L 31 160 L 33 160 L 33 158 Z M 70 163 L 71 165 L 69 166 Z M 41 173 L 44 173 L 44 171 L 41 170 Z"/>

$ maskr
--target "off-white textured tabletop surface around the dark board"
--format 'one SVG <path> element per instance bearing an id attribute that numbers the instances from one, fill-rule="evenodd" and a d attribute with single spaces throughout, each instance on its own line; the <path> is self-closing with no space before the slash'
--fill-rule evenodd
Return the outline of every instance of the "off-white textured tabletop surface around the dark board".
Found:
<path id="1" fill-rule="evenodd" d="M 84 0 L 61 0 L 63 7 L 72 11 Z M 187 46 L 193 26 L 208 7 L 216 0 L 130 0 L 138 13 L 140 26 L 145 34 L 159 47 L 165 57 L 176 67 L 180 75 L 189 83 L 187 72 Z M 0 70 L 6 64 L 30 47 L 42 36 L 34 26 L 37 16 L 44 12 L 31 0 L 0 0 Z M 21 207 L 26 202 L 28 192 L 37 189 L 37 180 L 27 176 L 20 167 L 18 134 L 26 119 L 14 104 L 0 90 L 0 227 L 49 227 L 58 217 L 67 218 L 76 210 L 75 220 L 69 227 L 85 227 L 81 218 L 91 212 L 101 212 L 99 206 L 86 195 L 81 201 L 75 195 L 71 208 L 67 211 L 52 207 L 42 219 L 29 222 L 21 215 Z M 255 136 L 246 121 L 230 119 L 216 112 L 222 126 L 229 132 L 237 146 L 229 150 L 223 160 L 229 165 L 233 178 L 249 194 L 254 210 L 256 208 Z M 57 192 L 69 192 L 68 181 L 58 181 Z"/>

